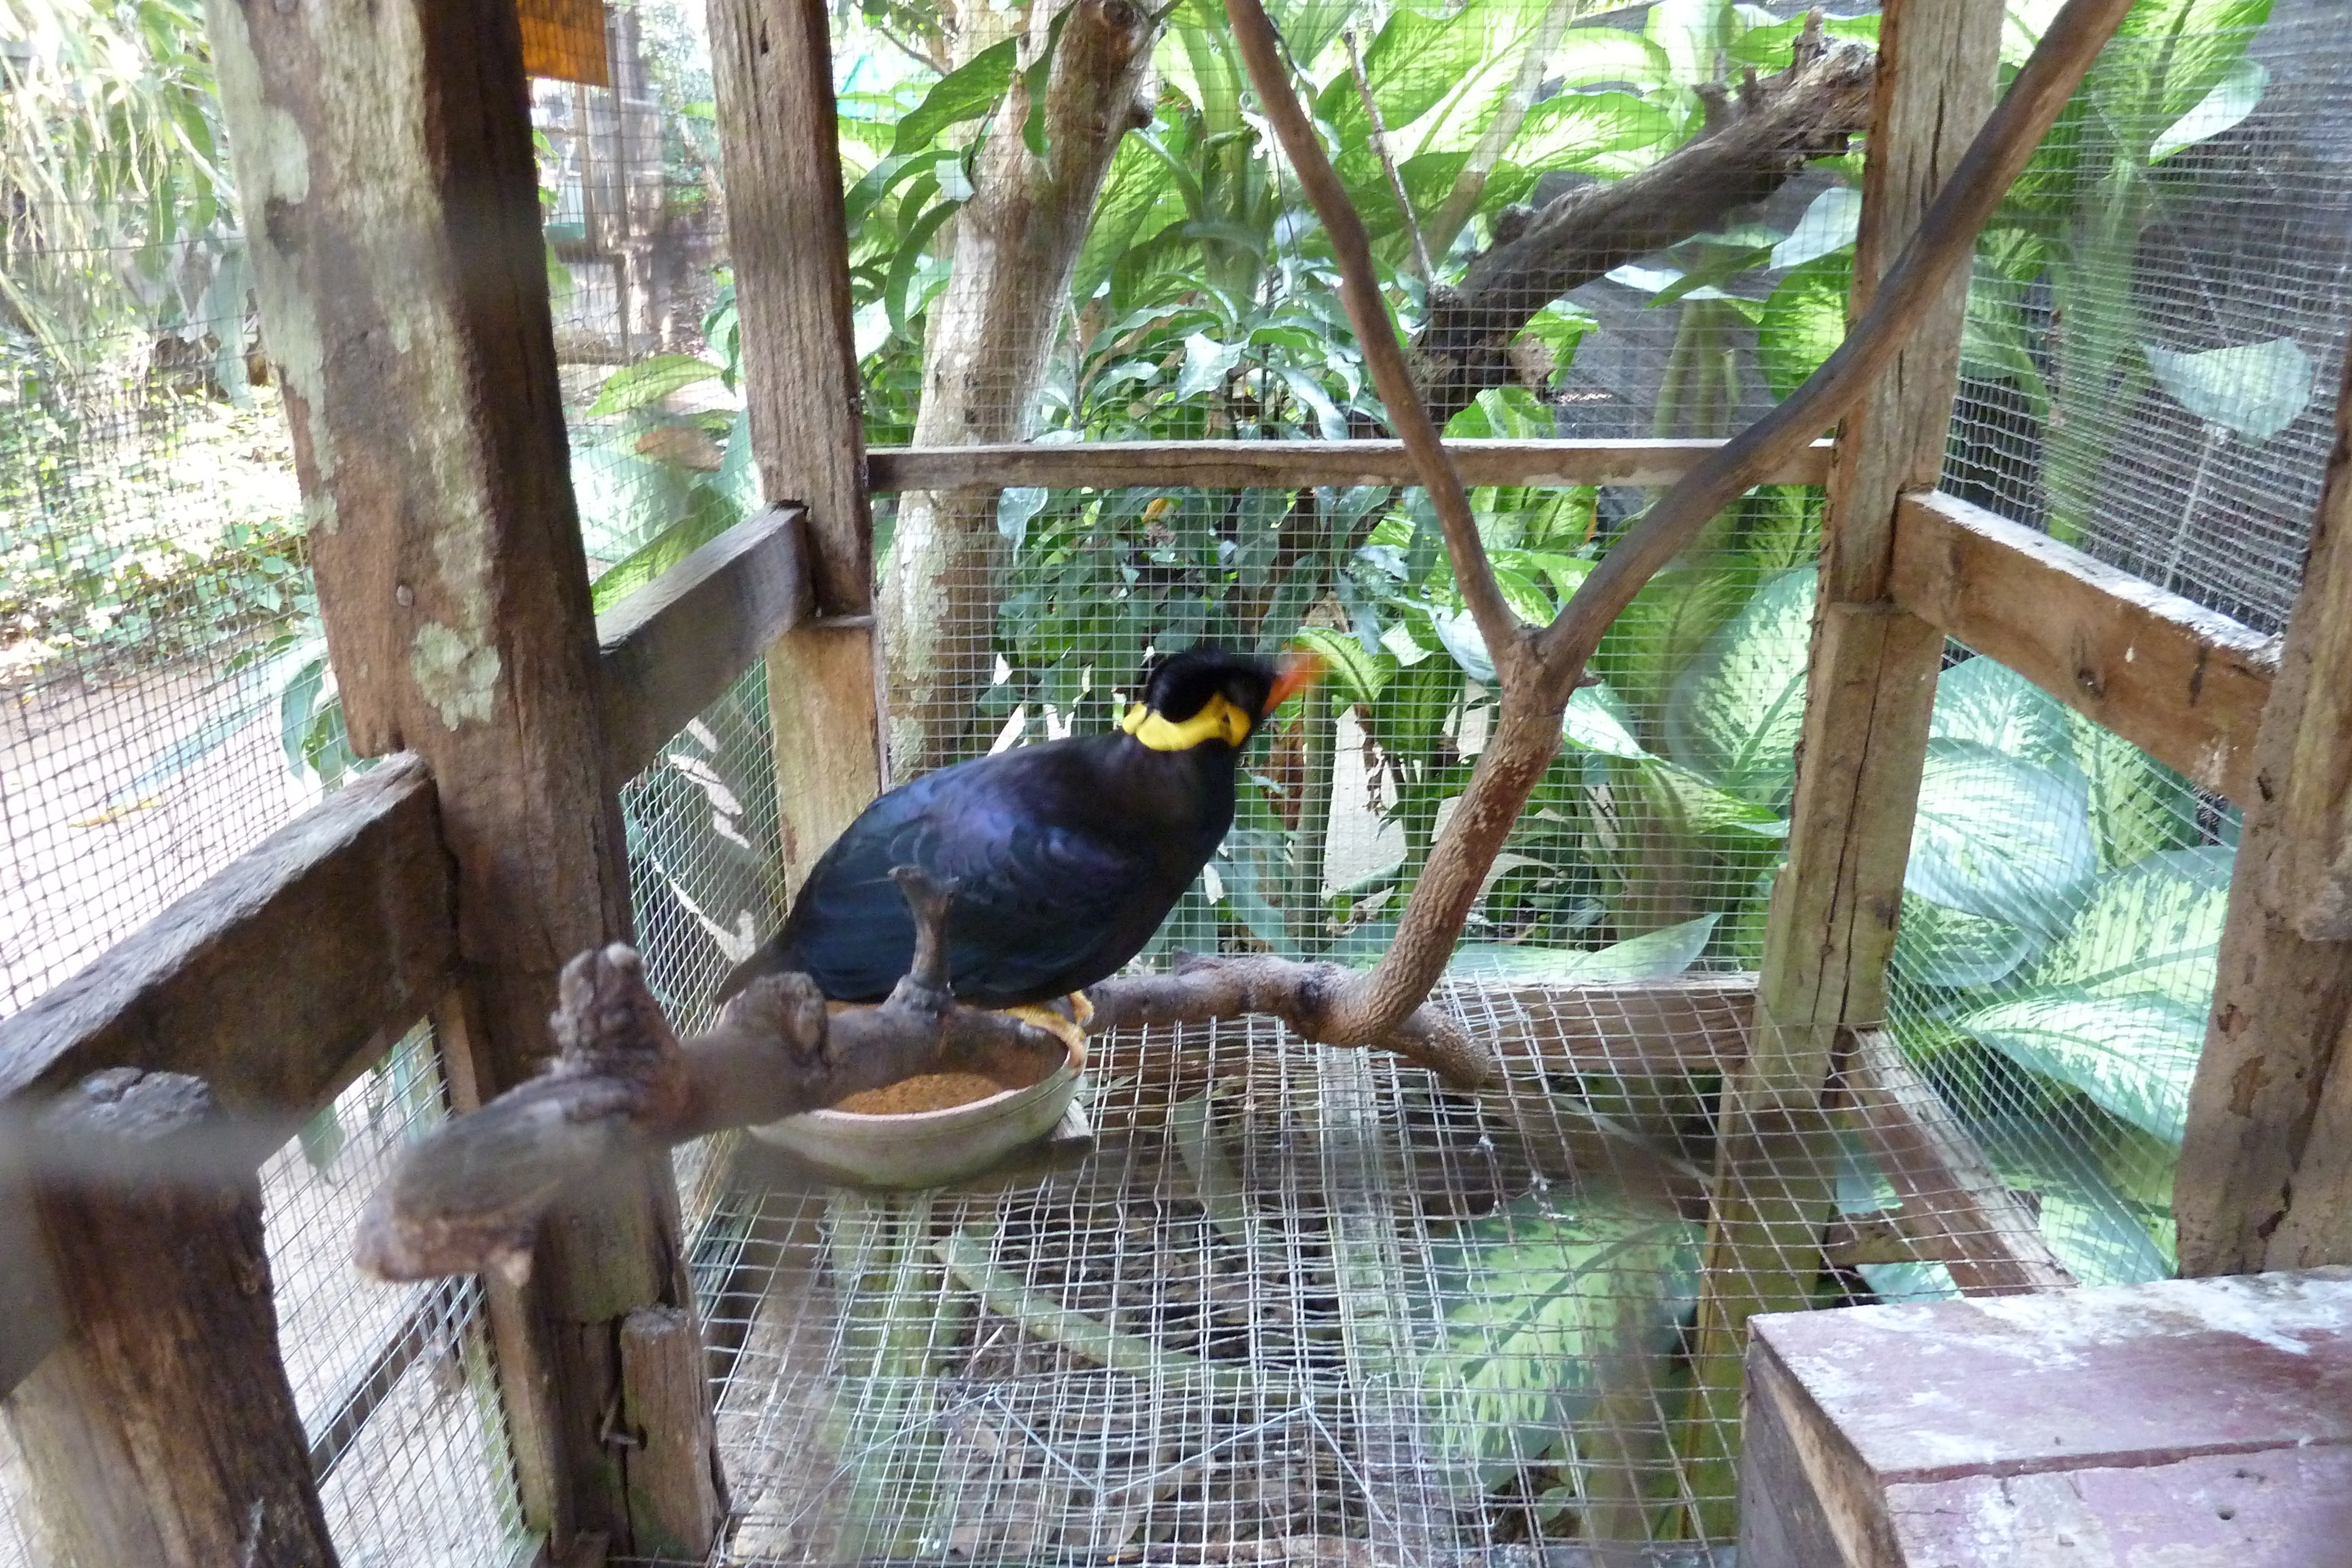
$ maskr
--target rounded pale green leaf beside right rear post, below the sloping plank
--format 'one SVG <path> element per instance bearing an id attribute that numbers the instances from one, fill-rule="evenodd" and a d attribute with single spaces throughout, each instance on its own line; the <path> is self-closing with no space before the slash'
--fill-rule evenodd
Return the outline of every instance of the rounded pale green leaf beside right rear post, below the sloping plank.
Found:
<path id="1" fill-rule="evenodd" d="M 2089 792 L 1976 741 L 1929 741 L 1903 886 L 2053 936 L 2098 870 Z"/>

